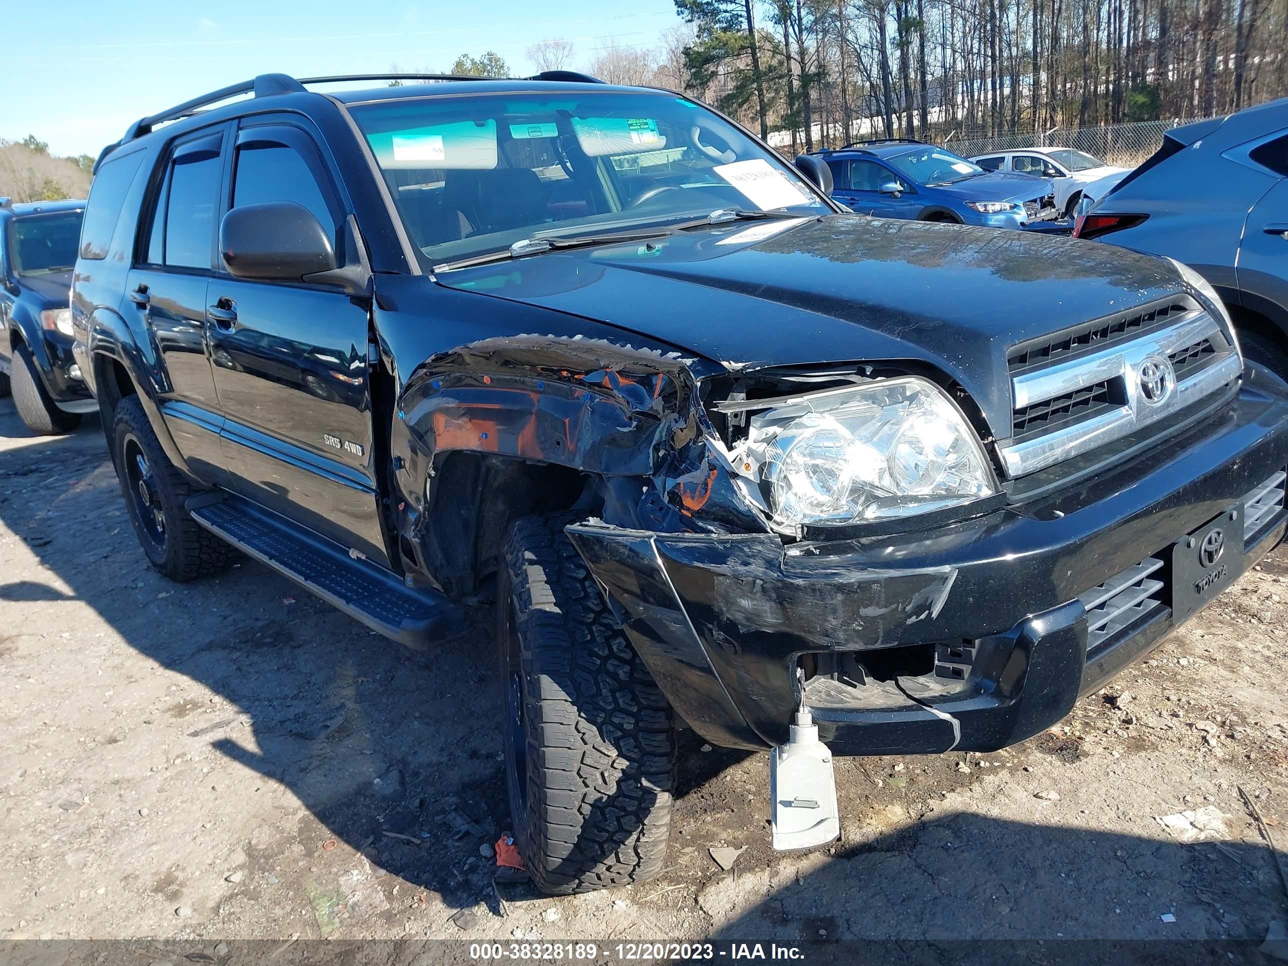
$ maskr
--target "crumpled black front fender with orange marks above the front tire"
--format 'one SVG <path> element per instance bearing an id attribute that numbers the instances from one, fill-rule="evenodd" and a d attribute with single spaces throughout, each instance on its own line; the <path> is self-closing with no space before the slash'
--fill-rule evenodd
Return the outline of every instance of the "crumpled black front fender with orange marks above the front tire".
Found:
<path id="1" fill-rule="evenodd" d="M 707 444 L 692 359 L 564 336 L 473 343 L 419 367 L 390 455 L 399 556 L 452 596 L 519 516 L 585 510 L 662 532 L 764 523 Z"/>

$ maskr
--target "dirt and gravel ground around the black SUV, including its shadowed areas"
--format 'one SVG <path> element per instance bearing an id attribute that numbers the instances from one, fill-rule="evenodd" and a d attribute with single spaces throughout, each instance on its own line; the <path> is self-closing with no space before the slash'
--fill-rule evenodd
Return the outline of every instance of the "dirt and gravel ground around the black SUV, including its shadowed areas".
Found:
<path id="1" fill-rule="evenodd" d="M 1288 904 L 1239 788 L 1288 848 L 1285 601 L 1280 549 L 1052 732 L 842 760 L 827 851 L 775 855 L 766 759 L 685 733 L 663 878 L 498 895 L 487 614 L 413 654 L 250 560 L 167 583 L 98 422 L 0 399 L 0 938 L 1260 940 Z M 1227 840 L 1154 818 L 1206 806 Z"/>

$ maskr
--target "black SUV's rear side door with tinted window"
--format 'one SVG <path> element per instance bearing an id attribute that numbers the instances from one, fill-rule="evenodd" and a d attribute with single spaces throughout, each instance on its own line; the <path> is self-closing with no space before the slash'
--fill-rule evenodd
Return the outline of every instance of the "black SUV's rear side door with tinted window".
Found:
<path id="1" fill-rule="evenodd" d="M 122 313 L 151 331 L 162 365 L 161 416 L 188 466 L 206 483 L 223 479 L 223 419 L 206 341 L 206 286 L 229 125 L 206 128 L 170 146 L 153 171 Z M 104 166 L 106 170 L 106 166 Z"/>

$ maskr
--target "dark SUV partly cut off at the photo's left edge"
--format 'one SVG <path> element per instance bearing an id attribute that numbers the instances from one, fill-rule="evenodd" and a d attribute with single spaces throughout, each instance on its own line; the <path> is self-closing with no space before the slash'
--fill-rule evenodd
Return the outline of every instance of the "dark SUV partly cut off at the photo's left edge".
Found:
<path id="1" fill-rule="evenodd" d="M 84 201 L 0 198 L 0 395 L 33 433 L 68 433 L 98 404 L 72 358 L 67 308 Z"/>

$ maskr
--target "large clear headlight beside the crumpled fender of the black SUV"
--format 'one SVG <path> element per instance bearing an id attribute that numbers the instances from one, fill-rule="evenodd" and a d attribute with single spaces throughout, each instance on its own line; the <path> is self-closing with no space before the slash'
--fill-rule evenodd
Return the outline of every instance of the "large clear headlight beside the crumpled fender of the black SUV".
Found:
<path id="1" fill-rule="evenodd" d="M 939 386 L 918 377 L 764 401 L 732 455 L 735 469 L 760 483 L 770 524 L 783 533 L 912 516 L 997 493 L 975 430 Z"/>

